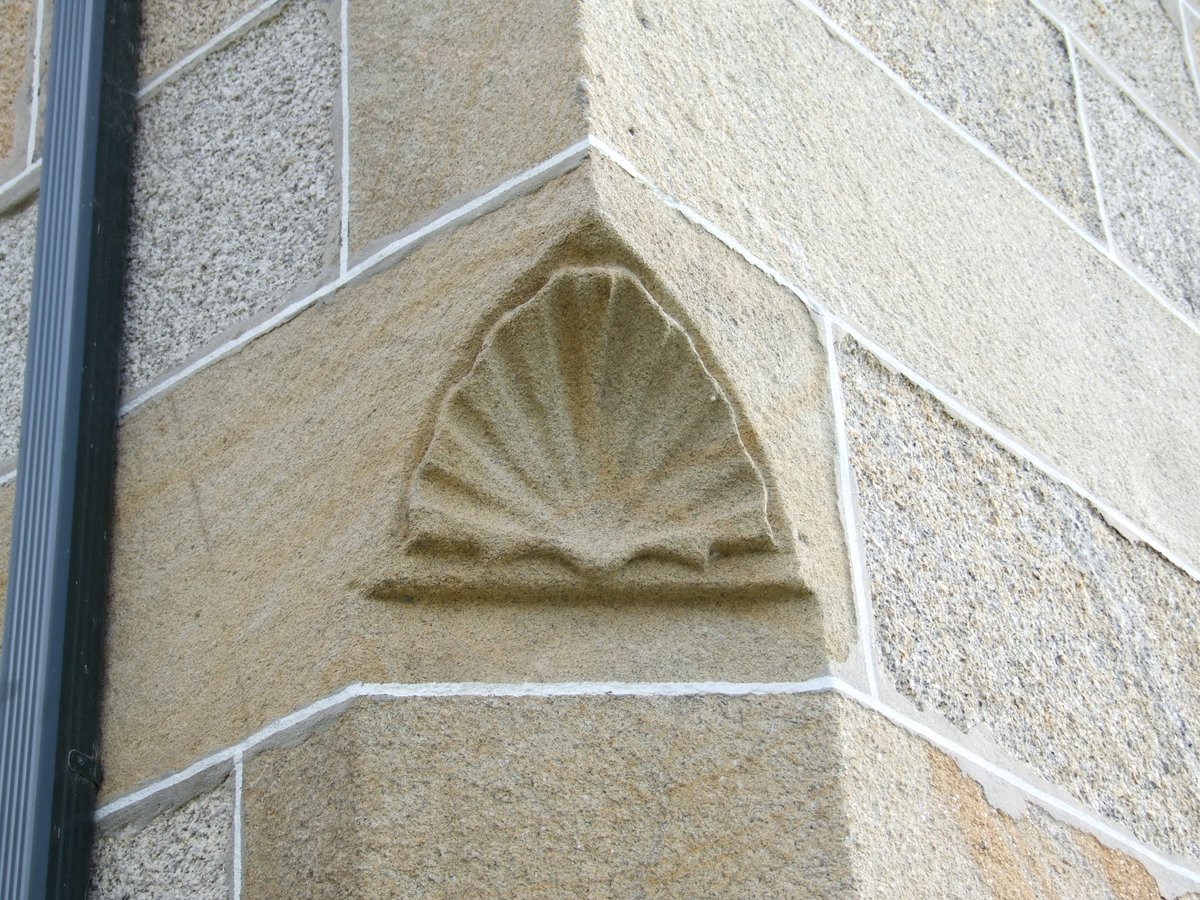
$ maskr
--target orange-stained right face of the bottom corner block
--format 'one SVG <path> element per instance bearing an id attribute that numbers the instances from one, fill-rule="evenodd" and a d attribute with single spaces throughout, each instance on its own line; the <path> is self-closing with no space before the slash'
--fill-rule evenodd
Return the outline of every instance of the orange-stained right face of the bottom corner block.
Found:
<path id="1" fill-rule="evenodd" d="M 840 712 L 859 896 L 1159 896 L 1136 859 L 1034 806 L 1013 820 L 950 757 L 851 703 Z"/>

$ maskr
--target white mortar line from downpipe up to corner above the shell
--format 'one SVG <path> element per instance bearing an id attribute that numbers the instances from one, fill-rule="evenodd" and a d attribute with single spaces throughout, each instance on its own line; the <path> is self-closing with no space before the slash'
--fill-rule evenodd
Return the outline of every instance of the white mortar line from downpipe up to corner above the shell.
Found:
<path id="1" fill-rule="evenodd" d="M 326 282 L 311 294 L 288 304 L 263 322 L 259 322 L 252 328 L 230 337 L 228 341 L 215 347 L 209 353 L 205 353 L 203 356 L 176 370 L 174 373 L 154 386 L 144 389 L 140 394 L 136 395 L 120 408 L 119 415 L 121 418 L 128 415 L 143 403 L 174 388 L 176 384 L 196 374 L 202 368 L 206 368 L 217 360 L 228 356 L 254 338 L 260 337 L 268 331 L 272 331 L 286 322 L 289 322 L 322 298 L 341 290 L 376 266 L 391 262 L 397 256 L 415 250 L 425 241 L 438 236 L 443 232 L 449 230 L 466 221 L 470 221 L 475 216 L 488 212 L 497 206 L 504 205 L 510 199 L 529 193 L 559 175 L 575 169 L 587 157 L 589 149 L 590 144 L 588 140 L 584 139 L 576 142 L 565 150 L 551 156 L 548 160 L 545 160 L 536 166 L 506 179 L 492 190 L 467 200 L 461 206 L 456 206 L 442 216 L 438 216 L 432 222 L 428 222 L 427 224 L 397 238 L 385 247 L 368 256 L 366 259 L 356 263 L 343 275 L 338 275 L 332 281 Z"/>

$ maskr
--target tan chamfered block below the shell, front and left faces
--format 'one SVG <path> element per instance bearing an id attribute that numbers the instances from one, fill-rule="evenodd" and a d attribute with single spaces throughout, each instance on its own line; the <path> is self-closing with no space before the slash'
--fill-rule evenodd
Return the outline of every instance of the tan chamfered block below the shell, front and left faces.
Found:
<path id="1" fill-rule="evenodd" d="M 246 894 L 848 895 L 835 713 L 830 697 L 359 706 L 247 764 Z"/>

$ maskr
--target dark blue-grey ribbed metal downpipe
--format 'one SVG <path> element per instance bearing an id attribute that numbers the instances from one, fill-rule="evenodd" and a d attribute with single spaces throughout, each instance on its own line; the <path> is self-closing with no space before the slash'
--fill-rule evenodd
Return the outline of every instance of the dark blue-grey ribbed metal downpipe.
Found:
<path id="1" fill-rule="evenodd" d="M 58 0 L 0 656 L 0 896 L 83 896 L 100 781 L 136 0 Z"/>

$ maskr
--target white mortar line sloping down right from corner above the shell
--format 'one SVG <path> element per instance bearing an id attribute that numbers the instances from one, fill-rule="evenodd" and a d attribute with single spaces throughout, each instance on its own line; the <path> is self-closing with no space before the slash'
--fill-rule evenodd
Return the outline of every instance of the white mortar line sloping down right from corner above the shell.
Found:
<path id="1" fill-rule="evenodd" d="M 617 167 L 624 169 L 625 173 L 629 174 L 634 180 L 638 181 L 640 184 L 649 188 L 650 192 L 653 192 L 659 198 L 660 202 L 682 214 L 694 224 L 703 228 L 721 244 L 724 244 L 734 253 L 745 259 L 750 265 L 762 271 L 763 275 L 766 275 L 767 277 L 772 278 L 775 283 L 790 290 L 805 306 L 808 306 L 810 311 L 812 311 L 817 316 L 824 316 L 832 319 L 842 331 L 848 334 L 866 350 L 877 356 L 886 366 L 888 366 L 895 372 L 899 372 L 905 378 L 916 384 L 918 388 L 924 390 L 926 394 L 935 397 L 959 419 L 967 421 L 968 424 L 983 431 L 985 434 L 990 436 L 1001 446 L 1008 450 L 1013 456 L 1020 460 L 1025 460 L 1026 462 L 1028 462 L 1030 464 L 1043 472 L 1052 480 L 1057 481 L 1058 484 L 1063 485 L 1064 487 L 1069 488 L 1070 491 L 1082 497 L 1085 500 L 1092 504 L 1092 506 L 1094 506 L 1100 512 L 1100 515 L 1104 516 L 1105 520 L 1108 520 L 1110 524 L 1112 524 L 1118 530 L 1123 532 L 1127 536 L 1133 535 L 1138 541 L 1154 550 L 1159 556 L 1164 557 L 1168 562 L 1170 562 L 1180 570 L 1186 572 L 1194 581 L 1200 581 L 1200 569 L 1194 566 L 1189 560 L 1180 557 L 1174 551 L 1166 548 L 1163 541 L 1154 538 L 1146 528 L 1134 523 L 1133 520 L 1130 520 L 1123 512 L 1120 512 L 1114 505 L 1102 500 L 1097 494 L 1085 488 L 1079 481 L 1067 475 L 1057 467 L 1052 466 L 1049 461 L 1044 460 L 1032 449 L 1020 443 L 1015 438 L 1010 437 L 1007 432 L 1004 432 L 996 425 L 989 422 L 986 419 L 984 419 L 979 413 L 968 407 L 966 403 L 955 398 L 953 395 L 944 391 L 943 389 L 936 386 L 928 378 L 924 378 L 923 376 L 918 374 L 912 366 L 901 362 L 900 359 L 896 358 L 894 354 L 886 350 L 881 344 L 869 338 L 860 328 L 851 323 L 848 319 L 834 313 L 824 304 L 810 296 L 809 293 L 804 290 L 804 288 L 802 288 L 799 284 L 787 278 L 778 269 L 775 269 L 774 266 L 772 266 L 770 264 L 768 264 L 767 262 L 764 262 L 763 259 L 750 252 L 745 246 L 742 245 L 740 241 L 738 241 L 733 235 L 724 230 L 720 226 L 709 221 L 708 218 L 700 215 L 686 204 L 680 203 L 676 198 L 671 197 L 671 194 L 662 191 L 660 187 L 658 187 L 658 185 L 655 185 L 646 175 L 643 175 L 618 150 L 614 150 L 612 146 L 610 146 L 599 138 L 592 138 L 592 140 L 598 152 L 606 156 L 608 161 L 616 164 Z"/>

